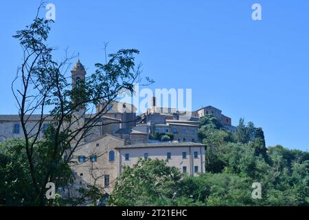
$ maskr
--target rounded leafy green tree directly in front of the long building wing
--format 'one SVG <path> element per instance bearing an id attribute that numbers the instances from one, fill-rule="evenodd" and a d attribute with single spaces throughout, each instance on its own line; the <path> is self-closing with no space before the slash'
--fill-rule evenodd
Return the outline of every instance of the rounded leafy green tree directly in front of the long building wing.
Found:
<path id="1" fill-rule="evenodd" d="M 181 190 L 181 173 L 159 159 L 139 159 L 132 168 L 124 166 L 108 199 L 112 206 L 170 206 Z"/>

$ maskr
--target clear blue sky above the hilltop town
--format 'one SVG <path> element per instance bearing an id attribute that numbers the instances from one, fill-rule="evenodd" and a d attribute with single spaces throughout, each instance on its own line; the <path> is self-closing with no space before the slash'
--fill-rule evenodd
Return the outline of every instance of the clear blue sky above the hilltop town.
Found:
<path id="1" fill-rule="evenodd" d="M 0 114 L 16 113 L 10 83 L 21 63 L 12 34 L 39 1 L 0 5 Z M 193 109 L 211 104 L 262 126 L 266 144 L 309 149 L 309 1 L 59 1 L 51 45 L 80 52 L 93 72 L 108 51 L 136 48 L 153 88 L 192 88 Z M 262 5 L 262 21 L 251 5 Z M 42 15 L 45 15 L 43 11 Z M 61 52 L 61 51 L 60 51 Z"/>

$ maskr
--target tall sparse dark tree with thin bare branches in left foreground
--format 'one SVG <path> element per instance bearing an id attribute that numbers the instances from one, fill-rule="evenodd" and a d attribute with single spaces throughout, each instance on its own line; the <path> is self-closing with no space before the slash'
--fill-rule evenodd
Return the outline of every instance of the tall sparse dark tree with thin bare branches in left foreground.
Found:
<path id="1" fill-rule="evenodd" d="M 109 54 L 106 63 L 95 64 L 95 73 L 91 76 L 76 83 L 69 82 L 66 72 L 73 56 L 67 56 L 66 50 L 62 61 L 54 59 L 55 49 L 47 42 L 52 23 L 37 14 L 32 24 L 13 36 L 23 50 L 23 63 L 12 82 L 24 135 L 23 159 L 26 159 L 31 177 L 34 204 L 41 206 L 48 203 L 45 199 L 47 182 L 54 182 L 58 188 L 66 179 L 58 176 L 64 155 L 67 156 L 65 164 L 69 164 L 76 147 L 91 129 L 104 126 L 98 121 L 108 111 L 108 104 L 123 91 L 132 94 L 134 84 L 140 81 L 140 65 L 135 65 L 135 55 L 139 51 L 130 49 Z M 152 83 L 149 78 L 146 80 Z M 104 103 L 102 109 L 95 112 L 95 106 L 101 103 Z M 87 121 L 84 120 L 86 113 Z M 34 114 L 38 121 L 32 125 L 30 118 Z M 53 123 L 40 140 L 47 119 L 52 119 Z M 41 155 L 43 149 L 47 151 L 44 157 Z"/>

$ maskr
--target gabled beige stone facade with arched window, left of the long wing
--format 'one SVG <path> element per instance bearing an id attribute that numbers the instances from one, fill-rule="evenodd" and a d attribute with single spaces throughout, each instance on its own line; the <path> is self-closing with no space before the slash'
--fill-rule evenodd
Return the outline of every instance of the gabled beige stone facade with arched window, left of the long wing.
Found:
<path id="1" fill-rule="evenodd" d="M 96 184 L 110 193 L 115 186 L 115 179 L 120 174 L 119 151 L 117 147 L 126 146 L 128 143 L 113 135 L 106 134 L 98 140 L 78 146 L 73 154 L 72 169 L 76 175 L 76 188 L 84 187 L 86 184 Z M 110 155 L 110 154 L 113 154 Z M 85 157 L 85 162 L 80 162 L 80 157 Z M 96 156 L 96 159 L 93 159 Z M 91 161 L 91 159 L 96 161 Z M 108 178 L 107 178 L 108 177 Z M 109 182 L 105 182 L 109 180 Z"/>

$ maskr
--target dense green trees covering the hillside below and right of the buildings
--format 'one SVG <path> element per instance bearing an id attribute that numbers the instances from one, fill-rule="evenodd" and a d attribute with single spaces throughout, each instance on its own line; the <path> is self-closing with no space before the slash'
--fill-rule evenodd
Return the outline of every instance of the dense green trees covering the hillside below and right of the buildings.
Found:
<path id="1" fill-rule="evenodd" d="M 115 206 L 309 206 L 308 152 L 279 145 L 267 149 L 262 129 L 255 128 L 252 122 L 245 126 L 240 120 L 234 136 L 216 126 L 211 115 L 201 121 L 198 132 L 207 146 L 207 173 L 181 176 L 163 161 L 139 160 L 133 168 L 125 168 L 108 203 Z M 262 186 L 262 199 L 251 196 L 255 182 Z"/>

